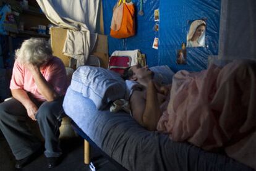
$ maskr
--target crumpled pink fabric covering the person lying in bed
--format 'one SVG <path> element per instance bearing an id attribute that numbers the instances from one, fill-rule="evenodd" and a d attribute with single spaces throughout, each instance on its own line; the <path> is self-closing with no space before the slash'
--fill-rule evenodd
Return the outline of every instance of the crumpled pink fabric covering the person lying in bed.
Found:
<path id="1" fill-rule="evenodd" d="M 256 63 L 177 72 L 157 129 L 203 149 L 223 147 L 229 157 L 256 169 Z"/>

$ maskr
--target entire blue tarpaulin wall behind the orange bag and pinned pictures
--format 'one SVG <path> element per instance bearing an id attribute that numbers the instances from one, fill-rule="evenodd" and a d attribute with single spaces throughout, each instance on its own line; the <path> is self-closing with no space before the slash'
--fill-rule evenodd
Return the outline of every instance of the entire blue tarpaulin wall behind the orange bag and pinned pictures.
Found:
<path id="1" fill-rule="evenodd" d="M 103 0 L 103 20 L 105 35 L 110 33 L 113 7 L 116 0 Z M 135 36 L 116 39 L 108 36 L 109 54 L 115 50 L 134 50 L 146 54 L 147 65 L 168 65 L 172 70 L 181 69 L 198 71 L 207 68 L 208 56 L 218 54 L 218 37 L 220 28 L 220 0 L 143 0 L 144 15 L 138 14 L 140 1 L 135 4 Z M 160 10 L 160 21 L 155 22 L 154 10 Z M 203 19 L 207 23 L 205 31 L 205 48 L 187 48 L 186 64 L 177 64 L 177 51 L 187 41 L 189 24 L 193 20 Z M 159 31 L 155 31 L 159 24 Z M 154 38 L 159 38 L 159 47 L 153 49 Z"/>

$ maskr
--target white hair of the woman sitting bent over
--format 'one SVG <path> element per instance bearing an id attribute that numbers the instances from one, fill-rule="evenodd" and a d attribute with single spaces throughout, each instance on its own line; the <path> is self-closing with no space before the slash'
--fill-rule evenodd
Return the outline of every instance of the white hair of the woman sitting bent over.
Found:
<path id="1" fill-rule="evenodd" d="M 21 64 L 42 65 L 52 57 L 53 51 L 45 39 L 30 38 L 22 43 L 20 49 L 15 51 L 15 58 Z"/>

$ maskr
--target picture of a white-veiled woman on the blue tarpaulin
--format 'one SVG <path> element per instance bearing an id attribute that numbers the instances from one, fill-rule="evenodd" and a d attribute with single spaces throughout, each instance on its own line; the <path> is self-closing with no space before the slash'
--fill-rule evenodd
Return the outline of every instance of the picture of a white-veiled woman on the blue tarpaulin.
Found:
<path id="1" fill-rule="evenodd" d="M 205 47 L 207 23 L 203 19 L 190 20 L 187 26 L 187 48 Z"/>

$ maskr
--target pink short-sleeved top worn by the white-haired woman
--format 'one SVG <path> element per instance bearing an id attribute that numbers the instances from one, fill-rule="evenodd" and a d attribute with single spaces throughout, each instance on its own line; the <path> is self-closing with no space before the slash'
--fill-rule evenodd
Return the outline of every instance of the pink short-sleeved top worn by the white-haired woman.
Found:
<path id="1" fill-rule="evenodd" d="M 58 94 L 64 95 L 66 93 L 68 86 L 67 75 L 65 66 L 61 59 L 53 57 L 45 66 L 40 68 L 40 71 L 43 77 L 45 77 L 45 80 L 53 86 L 54 90 Z M 32 74 L 22 64 L 17 62 L 17 60 L 15 60 L 14 68 L 12 70 L 10 89 L 22 89 L 30 92 L 33 98 L 38 101 L 46 100 L 43 95 L 39 93 Z"/>

